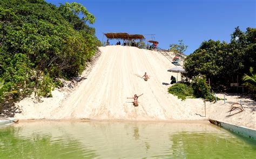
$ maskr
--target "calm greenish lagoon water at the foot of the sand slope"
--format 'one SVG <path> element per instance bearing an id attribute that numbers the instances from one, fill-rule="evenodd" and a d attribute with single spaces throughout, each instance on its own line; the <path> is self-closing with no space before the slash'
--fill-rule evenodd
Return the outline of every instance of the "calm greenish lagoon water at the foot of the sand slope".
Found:
<path id="1" fill-rule="evenodd" d="M 30 121 L 0 127 L 0 158 L 256 158 L 256 141 L 206 122 Z"/>

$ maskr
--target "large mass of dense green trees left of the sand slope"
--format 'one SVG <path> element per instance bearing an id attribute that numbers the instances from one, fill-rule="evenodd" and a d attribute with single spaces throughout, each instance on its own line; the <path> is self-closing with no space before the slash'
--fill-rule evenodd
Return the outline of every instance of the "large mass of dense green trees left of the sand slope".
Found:
<path id="1" fill-rule="evenodd" d="M 95 28 L 86 24 L 94 21 L 78 3 L 0 1 L 1 104 L 32 92 L 51 96 L 57 78 L 81 74 L 100 44 Z"/>

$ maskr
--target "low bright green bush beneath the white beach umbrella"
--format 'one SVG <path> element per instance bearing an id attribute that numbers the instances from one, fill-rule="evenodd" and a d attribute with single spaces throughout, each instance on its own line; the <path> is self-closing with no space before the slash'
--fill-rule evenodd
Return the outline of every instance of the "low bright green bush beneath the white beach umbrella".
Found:
<path id="1" fill-rule="evenodd" d="M 168 88 L 168 92 L 174 96 L 178 96 L 178 99 L 185 100 L 187 97 L 193 96 L 193 89 L 190 85 L 183 83 L 177 83 Z"/>

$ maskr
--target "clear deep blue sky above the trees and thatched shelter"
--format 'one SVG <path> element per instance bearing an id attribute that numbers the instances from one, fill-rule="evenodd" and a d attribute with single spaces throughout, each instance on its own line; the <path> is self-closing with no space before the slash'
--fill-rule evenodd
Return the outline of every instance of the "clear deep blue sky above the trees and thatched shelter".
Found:
<path id="1" fill-rule="evenodd" d="M 230 42 L 230 34 L 256 25 L 254 0 L 46 0 L 77 2 L 96 16 L 92 26 L 100 41 L 103 33 L 156 34 L 160 48 L 182 39 L 191 54 L 204 40 Z M 150 38 L 150 37 L 149 37 Z M 106 40 L 106 38 L 104 38 Z M 111 42 L 111 41 L 110 41 Z M 114 42 L 111 42 L 114 43 Z"/>

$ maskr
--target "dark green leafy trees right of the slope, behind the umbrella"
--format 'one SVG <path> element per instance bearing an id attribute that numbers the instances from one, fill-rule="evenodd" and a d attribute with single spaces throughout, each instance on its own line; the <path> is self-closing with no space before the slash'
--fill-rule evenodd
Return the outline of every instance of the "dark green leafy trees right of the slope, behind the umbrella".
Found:
<path id="1" fill-rule="evenodd" d="M 231 34 L 230 43 L 208 40 L 186 57 L 184 68 L 188 78 L 205 75 L 215 91 L 228 91 L 230 83 L 243 83 L 244 74 L 256 66 L 256 28 L 242 32 L 239 27 Z M 255 91 L 254 91 L 255 93 Z"/>

